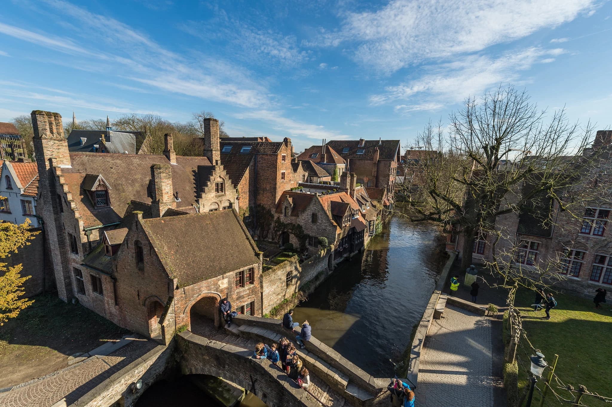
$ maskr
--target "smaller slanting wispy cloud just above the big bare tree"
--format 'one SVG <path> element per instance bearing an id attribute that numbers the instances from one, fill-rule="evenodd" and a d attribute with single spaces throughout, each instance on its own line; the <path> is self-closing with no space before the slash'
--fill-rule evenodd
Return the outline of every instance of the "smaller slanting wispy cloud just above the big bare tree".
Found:
<path id="1" fill-rule="evenodd" d="M 412 79 L 398 86 L 387 87 L 386 93 L 372 95 L 371 105 L 383 105 L 391 101 L 404 100 L 395 106 L 395 111 L 435 111 L 451 103 L 457 103 L 468 95 L 478 96 L 500 83 L 524 84 L 520 72 L 537 63 L 554 60 L 553 56 L 564 50 L 543 50 L 528 48 L 509 52 L 491 59 L 484 55 L 468 56 L 447 64 L 427 67 L 427 73 L 419 79 Z"/>

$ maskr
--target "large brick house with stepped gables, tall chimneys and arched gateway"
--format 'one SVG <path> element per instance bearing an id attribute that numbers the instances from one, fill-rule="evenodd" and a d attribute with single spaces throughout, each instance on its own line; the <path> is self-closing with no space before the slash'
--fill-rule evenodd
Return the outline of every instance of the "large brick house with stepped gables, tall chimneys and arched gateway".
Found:
<path id="1" fill-rule="evenodd" d="M 261 255 L 218 150 L 176 156 L 166 135 L 165 155 L 69 152 L 59 114 L 33 111 L 32 123 L 61 299 L 165 343 L 193 312 L 218 323 L 225 296 L 261 315 Z"/>

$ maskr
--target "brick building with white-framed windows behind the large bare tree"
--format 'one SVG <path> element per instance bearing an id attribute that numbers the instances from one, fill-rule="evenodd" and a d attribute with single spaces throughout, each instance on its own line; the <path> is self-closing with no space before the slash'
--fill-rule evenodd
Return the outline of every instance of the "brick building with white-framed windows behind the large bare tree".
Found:
<path id="1" fill-rule="evenodd" d="M 586 193 L 597 189 L 605 194 L 588 202 L 580 211 L 582 219 L 574 218 L 570 211 L 562 211 L 558 205 L 551 205 L 547 197 L 540 196 L 521 213 L 499 216 L 495 222 L 495 228 L 510 237 L 500 240 L 498 249 L 517 248 L 515 259 L 512 259 L 515 266 L 529 270 L 537 263 L 552 263 L 559 274 L 567 277 L 555 287 L 585 296 L 594 295 L 596 288 L 607 289 L 612 285 L 612 235 L 608 230 L 608 222 L 612 219 L 612 131 L 597 131 L 592 147 L 583 154 L 587 158 L 595 155 L 598 158 L 588 176 L 572 188 Z M 593 193 L 593 196 L 598 195 L 601 194 Z M 543 224 L 550 211 L 554 221 Z M 487 233 L 477 238 L 472 248 L 475 262 L 492 260 L 492 240 Z M 461 235 L 448 236 L 447 250 L 461 252 L 462 247 Z"/>

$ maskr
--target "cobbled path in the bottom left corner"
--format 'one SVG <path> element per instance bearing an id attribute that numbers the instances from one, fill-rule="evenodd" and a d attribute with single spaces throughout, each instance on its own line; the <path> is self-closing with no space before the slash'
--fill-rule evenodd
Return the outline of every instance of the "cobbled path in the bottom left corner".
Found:
<path id="1" fill-rule="evenodd" d="M 156 345 L 149 340 L 134 340 L 108 356 L 81 362 L 26 386 L 0 393 L 0 406 L 49 407 L 62 398 L 70 405 Z"/>

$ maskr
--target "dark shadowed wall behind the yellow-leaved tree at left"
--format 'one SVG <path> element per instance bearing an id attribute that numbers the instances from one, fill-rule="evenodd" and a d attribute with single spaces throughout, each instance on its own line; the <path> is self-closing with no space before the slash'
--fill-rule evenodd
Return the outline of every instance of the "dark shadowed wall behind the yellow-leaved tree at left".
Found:
<path id="1" fill-rule="evenodd" d="M 2 262 L 7 263 L 7 267 L 21 264 L 21 277 L 31 276 L 23 283 L 25 298 L 52 291 L 55 288 L 55 276 L 50 266 L 48 251 L 45 248 L 45 240 L 39 227 L 32 229 L 39 232 L 28 246 L 19 249 L 17 253 L 11 254 Z"/>

